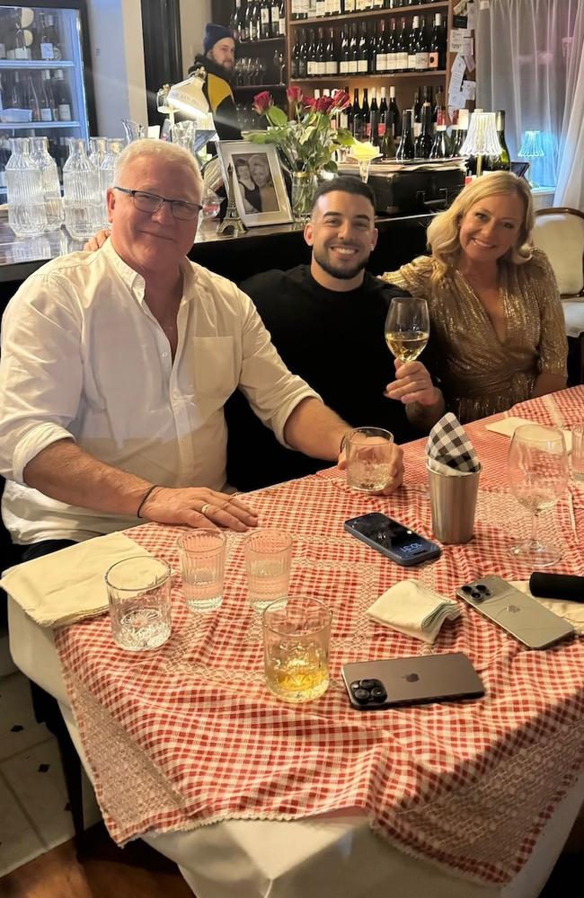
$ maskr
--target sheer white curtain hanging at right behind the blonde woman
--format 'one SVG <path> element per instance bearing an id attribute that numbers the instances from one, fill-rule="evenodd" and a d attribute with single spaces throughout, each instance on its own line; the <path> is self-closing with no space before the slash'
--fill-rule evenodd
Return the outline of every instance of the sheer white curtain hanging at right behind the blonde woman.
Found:
<path id="1" fill-rule="evenodd" d="M 481 0 L 476 14 L 476 105 L 507 112 L 518 159 L 526 130 L 541 132 L 532 178 L 556 187 L 554 205 L 582 208 L 584 0 Z"/>

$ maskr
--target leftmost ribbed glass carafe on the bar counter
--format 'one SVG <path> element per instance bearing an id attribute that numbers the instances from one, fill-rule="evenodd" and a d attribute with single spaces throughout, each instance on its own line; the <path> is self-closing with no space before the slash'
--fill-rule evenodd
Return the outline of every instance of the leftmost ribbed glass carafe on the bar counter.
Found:
<path id="1" fill-rule="evenodd" d="M 6 163 L 8 224 L 17 237 L 37 237 L 47 228 L 40 169 L 31 158 L 28 137 L 12 137 Z"/>

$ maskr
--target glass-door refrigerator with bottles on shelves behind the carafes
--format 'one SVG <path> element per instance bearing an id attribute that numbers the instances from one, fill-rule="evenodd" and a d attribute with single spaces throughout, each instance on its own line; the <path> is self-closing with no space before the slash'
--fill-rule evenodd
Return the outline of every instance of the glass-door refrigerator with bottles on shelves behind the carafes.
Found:
<path id="1" fill-rule="evenodd" d="M 46 136 L 59 173 L 68 137 L 95 134 L 85 0 L 0 0 L 0 202 L 10 137 Z"/>

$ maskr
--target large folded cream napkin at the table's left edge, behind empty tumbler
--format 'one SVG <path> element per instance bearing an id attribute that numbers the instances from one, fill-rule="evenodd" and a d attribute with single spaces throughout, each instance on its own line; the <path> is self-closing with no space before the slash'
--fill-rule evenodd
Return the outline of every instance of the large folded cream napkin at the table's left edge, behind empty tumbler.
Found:
<path id="1" fill-rule="evenodd" d="M 149 554 L 122 533 L 110 533 L 9 568 L 0 585 L 41 627 L 62 627 L 106 612 L 106 570 Z"/>

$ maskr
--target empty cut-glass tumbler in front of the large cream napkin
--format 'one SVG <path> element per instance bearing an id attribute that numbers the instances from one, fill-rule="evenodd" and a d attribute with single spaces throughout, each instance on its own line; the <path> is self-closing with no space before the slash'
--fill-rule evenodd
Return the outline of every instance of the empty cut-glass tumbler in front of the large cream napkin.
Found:
<path id="1" fill-rule="evenodd" d="M 151 555 L 111 565 L 105 574 L 111 635 L 120 648 L 158 648 L 171 635 L 171 568 Z"/>

